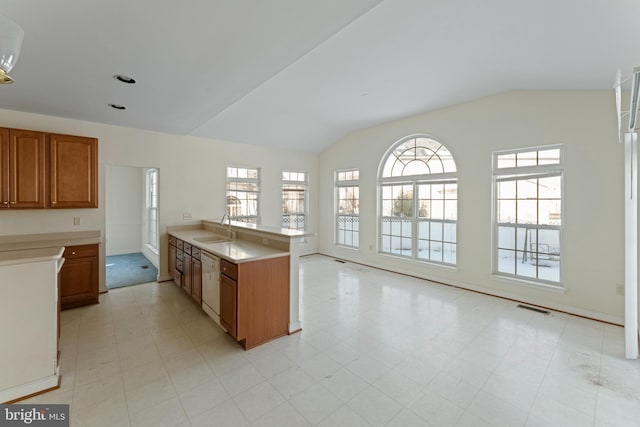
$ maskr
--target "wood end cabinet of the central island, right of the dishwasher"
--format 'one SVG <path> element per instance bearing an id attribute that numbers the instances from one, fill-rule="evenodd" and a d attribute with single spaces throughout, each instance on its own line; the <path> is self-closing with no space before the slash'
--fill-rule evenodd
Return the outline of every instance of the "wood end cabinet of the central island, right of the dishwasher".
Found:
<path id="1" fill-rule="evenodd" d="M 245 349 L 289 332 L 289 257 L 220 261 L 220 323 Z"/>

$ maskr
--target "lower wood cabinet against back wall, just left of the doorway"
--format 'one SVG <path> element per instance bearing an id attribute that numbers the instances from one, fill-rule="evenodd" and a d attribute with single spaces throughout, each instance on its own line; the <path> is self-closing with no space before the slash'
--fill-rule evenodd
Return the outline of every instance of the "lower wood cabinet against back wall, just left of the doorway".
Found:
<path id="1" fill-rule="evenodd" d="M 60 270 L 63 310 L 98 303 L 98 245 L 69 246 Z"/>

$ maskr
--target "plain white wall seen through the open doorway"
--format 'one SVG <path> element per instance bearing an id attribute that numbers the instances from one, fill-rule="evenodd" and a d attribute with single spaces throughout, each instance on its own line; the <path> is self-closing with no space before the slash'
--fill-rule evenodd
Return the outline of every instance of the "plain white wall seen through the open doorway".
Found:
<path id="1" fill-rule="evenodd" d="M 121 255 L 142 251 L 144 181 L 141 168 L 105 169 L 105 251 Z"/>

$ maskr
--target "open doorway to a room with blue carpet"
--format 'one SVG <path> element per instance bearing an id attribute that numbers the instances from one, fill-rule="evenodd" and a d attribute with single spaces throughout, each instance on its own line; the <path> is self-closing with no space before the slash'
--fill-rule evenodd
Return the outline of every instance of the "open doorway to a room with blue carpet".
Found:
<path id="1" fill-rule="evenodd" d="M 155 167 L 106 167 L 107 289 L 158 279 L 159 174 Z"/>

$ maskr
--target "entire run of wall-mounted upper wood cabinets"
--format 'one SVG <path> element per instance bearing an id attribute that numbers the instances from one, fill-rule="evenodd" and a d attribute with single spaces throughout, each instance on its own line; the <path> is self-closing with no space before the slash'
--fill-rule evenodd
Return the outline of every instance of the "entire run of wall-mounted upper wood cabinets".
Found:
<path id="1" fill-rule="evenodd" d="M 97 139 L 0 128 L 0 208 L 97 207 Z"/>

